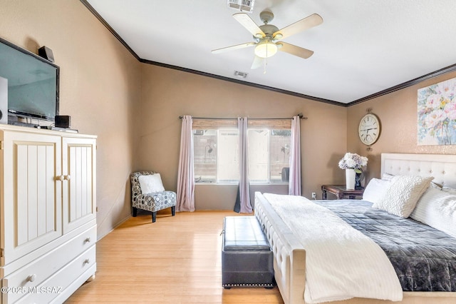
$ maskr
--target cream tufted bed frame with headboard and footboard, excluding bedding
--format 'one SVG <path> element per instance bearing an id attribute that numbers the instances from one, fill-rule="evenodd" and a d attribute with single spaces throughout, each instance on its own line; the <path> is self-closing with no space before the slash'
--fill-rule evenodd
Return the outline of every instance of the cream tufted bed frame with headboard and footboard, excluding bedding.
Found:
<path id="1" fill-rule="evenodd" d="M 383 153 L 381 156 L 381 174 L 382 176 L 433 176 L 432 183 L 434 185 L 444 188 L 456 188 L 456 156 Z M 296 233 L 296 229 L 290 228 L 290 224 L 286 222 L 289 220 L 282 219 L 288 217 L 284 217 L 283 213 L 281 217 L 282 211 L 277 211 L 269 200 L 271 200 L 271 196 L 268 196 L 268 194 L 255 193 L 254 211 L 255 216 L 264 228 L 266 238 L 268 238 L 274 253 L 276 283 L 284 303 L 306 303 L 306 300 L 304 300 L 304 290 L 307 283 L 306 270 L 309 272 L 311 269 L 311 265 L 307 265 L 306 269 L 306 246 L 302 245 L 303 240 Z M 341 202 L 338 201 L 338 203 Z M 323 206 L 331 203 L 334 206 L 336 201 L 322 201 Z M 346 200 L 346 203 L 349 204 L 350 202 Z M 360 201 L 357 203 L 360 203 Z M 456 281 L 454 277 L 450 278 L 450 280 L 452 284 Z M 402 281 L 400 283 L 403 284 Z M 452 291 L 431 292 L 400 290 L 400 302 L 395 303 L 456 303 L 454 286 L 452 289 Z M 335 301 L 331 301 L 331 298 L 329 298 L 325 302 L 387 303 L 390 301 L 371 297 L 355 297 Z"/>

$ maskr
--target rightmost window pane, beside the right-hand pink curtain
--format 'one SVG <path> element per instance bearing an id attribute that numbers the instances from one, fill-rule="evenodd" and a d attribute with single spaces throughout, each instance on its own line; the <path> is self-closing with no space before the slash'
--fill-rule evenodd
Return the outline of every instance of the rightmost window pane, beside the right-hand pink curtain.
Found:
<path id="1" fill-rule="evenodd" d="M 270 182 L 289 181 L 291 130 L 271 130 Z"/>

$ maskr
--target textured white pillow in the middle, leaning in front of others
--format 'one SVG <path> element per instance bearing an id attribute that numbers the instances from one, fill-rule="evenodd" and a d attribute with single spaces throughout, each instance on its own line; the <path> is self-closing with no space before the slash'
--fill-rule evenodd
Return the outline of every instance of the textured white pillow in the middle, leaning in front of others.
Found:
<path id="1" fill-rule="evenodd" d="M 385 196 L 373 207 L 408 218 L 433 177 L 394 176 Z"/>

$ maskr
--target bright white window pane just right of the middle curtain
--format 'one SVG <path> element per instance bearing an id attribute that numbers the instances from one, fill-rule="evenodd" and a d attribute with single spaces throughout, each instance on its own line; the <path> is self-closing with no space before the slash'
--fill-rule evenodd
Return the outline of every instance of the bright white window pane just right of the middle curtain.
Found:
<path id="1" fill-rule="evenodd" d="M 249 180 L 251 183 L 269 182 L 269 130 L 249 129 Z"/>

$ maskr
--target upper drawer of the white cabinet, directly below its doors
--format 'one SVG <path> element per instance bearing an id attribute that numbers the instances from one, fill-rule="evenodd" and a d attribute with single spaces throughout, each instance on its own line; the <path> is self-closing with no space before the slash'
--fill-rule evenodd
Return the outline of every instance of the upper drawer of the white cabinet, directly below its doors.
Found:
<path id="1" fill-rule="evenodd" d="M 14 303 L 19 300 L 24 295 L 23 291 L 33 291 L 33 288 L 41 285 L 47 278 L 89 248 L 93 248 L 95 252 L 96 233 L 96 226 L 93 226 L 46 255 L 19 268 L 11 275 L 7 275 L 2 280 L 2 286 L 11 293 L 2 294 L 3 303 Z M 95 263 L 95 258 L 93 258 L 93 263 Z"/>

